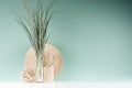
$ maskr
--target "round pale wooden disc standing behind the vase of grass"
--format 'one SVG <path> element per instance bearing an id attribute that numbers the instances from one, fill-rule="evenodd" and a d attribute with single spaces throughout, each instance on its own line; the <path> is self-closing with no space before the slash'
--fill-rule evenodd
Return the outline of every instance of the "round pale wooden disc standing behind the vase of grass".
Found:
<path id="1" fill-rule="evenodd" d="M 48 66 L 54 66 L 54 77 L 58 75 L 63 65 L 61 52 L 52 44 L 45 44 L 44 56 L 48 58 Z M 24 62 L 24 69 L 32 69 L 35 72 L 36 56 L 34 50 L 31 47 Z"/>

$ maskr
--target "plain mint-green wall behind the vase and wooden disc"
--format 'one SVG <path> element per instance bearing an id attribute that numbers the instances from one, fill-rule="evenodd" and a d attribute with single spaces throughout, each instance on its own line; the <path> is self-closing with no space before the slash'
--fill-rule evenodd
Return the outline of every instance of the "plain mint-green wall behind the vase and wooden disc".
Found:
<path id="1" fill-rule="evenodd" d="M 0 0 L 0 81 L 20 81 L 29 40 L 10 11 L 22 1 Z M 132 2 L 58 0 L 50 43 L 63 55 L 57 81 L 132 80 Z M 20 9 L 19 9 L 20 8 Z"/>

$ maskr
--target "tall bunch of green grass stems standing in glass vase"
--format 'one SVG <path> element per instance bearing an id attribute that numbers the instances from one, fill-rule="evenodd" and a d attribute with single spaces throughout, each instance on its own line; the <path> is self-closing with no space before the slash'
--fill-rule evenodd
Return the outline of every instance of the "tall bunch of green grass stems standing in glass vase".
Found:
<path id="1" fill-rule="evenodd" d="M 43 68 L 40 68 L 40 66 L 44 67 L 47 63 L 46 59 L 44 59 L 44 48 L 50 37 L 47 35 L 47 29 L 53 15 L 53 6 L 55 1 L 56 0 L 36 0 L 36 2 L 32 2 L 29 0 L 29 2 L 24 4 L 25 13 L 23 12 L 24 14 L 22 16 L 18 12 L 13 12 L 15 21 L 23 28 L 35 51 L 37 58 L 36 65 L 38 65 L 38 70 L 36 68 L 36 72 L 41 72 L 40 77 L 43 77 L 43 70 L 40 70 Z M 43 81 L 43 78 L 40 80 L 40 77 L 36 81 Z"/>

